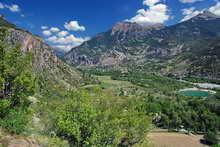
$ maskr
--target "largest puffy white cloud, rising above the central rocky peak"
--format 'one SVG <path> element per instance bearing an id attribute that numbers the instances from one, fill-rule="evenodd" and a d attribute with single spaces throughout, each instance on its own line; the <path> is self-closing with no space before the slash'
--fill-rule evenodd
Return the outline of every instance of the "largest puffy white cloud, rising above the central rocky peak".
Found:
<path id="1" fill-rule="evenodd" d="M 164 23 L 170 18 L 168 15 L 168 6 L 159 2 L 160 0 L 144 0 L 143 3 L 149 8 L 146 10 L 138 10 L 137 15 L 127 21 L 136 22 L 142 25 Z"/>

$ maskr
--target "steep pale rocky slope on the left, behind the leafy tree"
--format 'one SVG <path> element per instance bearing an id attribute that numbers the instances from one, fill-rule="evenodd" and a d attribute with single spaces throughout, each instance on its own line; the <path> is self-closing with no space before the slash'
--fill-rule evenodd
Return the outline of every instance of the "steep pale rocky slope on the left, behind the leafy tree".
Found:
<path id="1" fill-rule="evenodd" d="M 34 71 L 42 77 L 42 82 L 63 88 L 74 88 L 81 83 L 83 80 L 81 74 L 55 56 L 52 48 L 44 43 L 42 38 L 28 31 L 16 27 L 12 28 L 12 24 L 4 22 L 7 21 L 1 18 L 0 27 L 6 27 L 8 30 L 5 41 L 10 45 L 20 43 L 24 53 L 32 53 Z"/>

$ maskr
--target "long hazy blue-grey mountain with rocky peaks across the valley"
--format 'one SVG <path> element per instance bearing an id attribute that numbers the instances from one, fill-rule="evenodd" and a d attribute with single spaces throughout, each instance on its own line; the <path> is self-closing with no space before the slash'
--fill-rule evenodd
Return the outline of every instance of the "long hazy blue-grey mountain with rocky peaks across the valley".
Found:
<path id="1" fill-rule="evenodd" d="M 195 71 L 195 57 L 204 57 L 205 54 L 202 53 L 218 37 L 220 17 L 208 11 L 168 27 L 162 24 L 145 27 L 137 23 L 122 22 L 73 48 L 65 55 L 65 59 L 80 67 L 219 78 L 220 70 L 218 73 Z"/>

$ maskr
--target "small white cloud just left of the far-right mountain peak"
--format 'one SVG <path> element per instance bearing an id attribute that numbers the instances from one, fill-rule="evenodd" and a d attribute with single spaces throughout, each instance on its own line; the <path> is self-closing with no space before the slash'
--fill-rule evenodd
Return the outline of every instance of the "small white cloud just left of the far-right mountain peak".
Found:
<path id="1" fill-rule="evenodd" d="M 196 10 L 195 7 L 191 7 L 188 9 L 182 9 L 182 14 L 184 15 L 183 19 L 181 20 L 181 22 L 183 21 L 187 21 L 195 16 L 197 16 L 198 14 L 200 14 L 202 11 Z"/>

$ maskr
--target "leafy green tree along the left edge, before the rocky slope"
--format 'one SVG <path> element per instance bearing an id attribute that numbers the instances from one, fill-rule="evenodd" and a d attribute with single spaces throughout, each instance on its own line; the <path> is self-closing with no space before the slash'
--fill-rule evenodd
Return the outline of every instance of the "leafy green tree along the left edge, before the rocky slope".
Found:
<path id="1" fill-rule="evenodd" d="M 0 28 L 0 126 L 11 133 L 25 131 L 29 120 L 28 96 L 34 94 L 35 78 L 31 55 L 23 55 L 20 46 L 4 42 L 7 29 Z"/>

